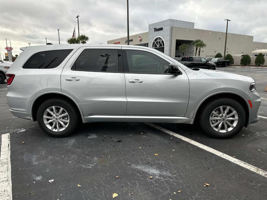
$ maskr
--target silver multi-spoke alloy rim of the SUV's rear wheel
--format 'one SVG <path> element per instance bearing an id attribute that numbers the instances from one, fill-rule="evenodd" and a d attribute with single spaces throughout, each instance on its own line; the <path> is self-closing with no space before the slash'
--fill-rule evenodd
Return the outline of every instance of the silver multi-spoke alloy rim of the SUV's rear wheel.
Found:
<path id="1" fill-rule="evenodd" d="M 47 108 L 44 112 L 43 119 L 46 127 L 55 132 L 65 130 L 70 123 L 68 112 L 60 106 Z"/>

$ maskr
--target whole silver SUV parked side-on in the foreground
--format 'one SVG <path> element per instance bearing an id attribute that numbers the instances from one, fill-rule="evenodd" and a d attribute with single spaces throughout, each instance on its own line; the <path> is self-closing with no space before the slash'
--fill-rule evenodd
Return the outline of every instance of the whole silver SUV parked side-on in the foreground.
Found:
<path id="1" fill-rule="evenodd" d="M 17 117 L 64 137 L 79 122 L 198 121 L 229 138 L 259 120 L 252 78 L 190 69 L 152 48 L 45 45 L 24 50 L 8 70 L 7 100 Z"/>

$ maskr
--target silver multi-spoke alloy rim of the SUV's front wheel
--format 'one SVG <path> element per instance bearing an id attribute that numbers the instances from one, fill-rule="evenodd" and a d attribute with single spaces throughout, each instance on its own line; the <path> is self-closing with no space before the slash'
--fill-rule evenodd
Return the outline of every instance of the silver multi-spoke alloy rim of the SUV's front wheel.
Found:
<path id="1" fill-rule="evenodd" d="M 227 133 L 233 130 L 238 123 L 238 114 L 230 106 L 217 107 L 210 114 L 210 126 L 219 133 Z"/>

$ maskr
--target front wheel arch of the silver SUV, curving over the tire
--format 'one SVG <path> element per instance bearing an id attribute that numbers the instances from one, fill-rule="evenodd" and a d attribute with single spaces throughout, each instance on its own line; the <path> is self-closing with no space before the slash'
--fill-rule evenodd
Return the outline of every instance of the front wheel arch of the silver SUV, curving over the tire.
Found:
<path id="1" fill-rule="evenodd" d="M 244 108 L 244 111 L 246 113 L 246 120 L 245 120 L 245 127 L 247 127 L 248 123 L 249 123 L 249 118 L 251 116 L 251 109 L 249 109 L 249 102 L 246 99 L 246 97 L 244 97 L 243 95 L 236 93 L 236 92 L 220 92 L 220 93 L 214 93 L 211 94 L 209 96 L 207 96 L 205 99 L 203 99 L 199 105 L 197 106 L 193 118 L 198 118 L 199 114 L 201 113 L 201 110 L 203 109 L 203 107 L 206 105 L 206 103 L 208 103 L 209 101 L 212 101 L 214 99 L 219 99 L 219 98 L 223 98 L 223 97 L 228 97 L 231 99 L 234 99 L 236 101 L 238 101 L 242 107 Z"/>

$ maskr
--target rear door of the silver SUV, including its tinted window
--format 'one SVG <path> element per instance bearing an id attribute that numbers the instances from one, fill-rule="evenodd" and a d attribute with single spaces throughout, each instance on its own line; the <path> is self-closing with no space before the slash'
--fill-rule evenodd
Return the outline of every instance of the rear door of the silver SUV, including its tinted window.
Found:
<path id="1" fill-rule="evenodd" d="M 79 48 L 61 73 L 61 90 L 74 98 L 84 116 L 126 114 L 121 48 Z"/>

